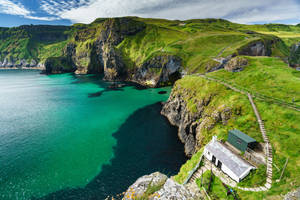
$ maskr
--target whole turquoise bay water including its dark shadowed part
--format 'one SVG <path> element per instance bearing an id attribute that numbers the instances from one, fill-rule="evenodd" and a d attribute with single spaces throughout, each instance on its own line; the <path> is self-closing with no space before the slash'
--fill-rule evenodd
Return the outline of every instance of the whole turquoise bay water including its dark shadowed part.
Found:
<path id="1" fill-rule="evenodd" d="M 95 76 L 0 71 L 0 199 L 104 199 L 141 175 L 178 172 L 162 89 L 107 90 Z"/>

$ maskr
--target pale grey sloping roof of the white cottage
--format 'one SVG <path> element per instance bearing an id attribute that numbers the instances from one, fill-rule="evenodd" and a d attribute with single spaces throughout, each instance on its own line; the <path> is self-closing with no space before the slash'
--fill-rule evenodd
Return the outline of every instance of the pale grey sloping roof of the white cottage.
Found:
<path id="1" fill-rule="evenodd" d="M 223 165 L 230 169 L 237 177 L 240 177 L 249 169 L 254 169 L 249 163 L 239 158 L 217 140 L 212 140 L 205 148 L 212 153 Z"/>

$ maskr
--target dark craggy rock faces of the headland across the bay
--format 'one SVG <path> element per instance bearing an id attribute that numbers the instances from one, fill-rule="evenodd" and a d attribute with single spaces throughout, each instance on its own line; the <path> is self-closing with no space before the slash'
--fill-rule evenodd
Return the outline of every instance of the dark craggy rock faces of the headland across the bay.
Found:
<path id="1" fill-rule="evenodd" d="M 127 80 L 151 87 L 170 85 L 180 77 L 181 59 L 171 55 L 156 56 L 132 69 L 125 65 L 117 48 L 125 37 L 139 33 L 145 26 L 143 22 L 131 18 L 106 19 L 97 28 L 100 33 L 95 36 L 94 42 L 86 42 L 87 30 L 77 33 L 75 41 L 65 47 L 63 57 L 56 58 L 56 62 L 53 58 L 47 59 L 46 71 L 103 73 L 104 80 L 109 81 Z"/>

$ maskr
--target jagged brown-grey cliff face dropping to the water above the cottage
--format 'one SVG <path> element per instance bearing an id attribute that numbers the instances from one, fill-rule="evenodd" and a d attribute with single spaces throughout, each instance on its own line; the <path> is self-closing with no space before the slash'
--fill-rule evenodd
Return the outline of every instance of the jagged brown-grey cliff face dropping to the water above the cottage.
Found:
<path id="1" fill-rule="evenodd" d="M 214 111 L 208 111 L 213 95 L 199 99 L 197 111 L 188 109 L 186 101 L 191 91 L 184 93 L 173 89 L 168 101 L 164 104 L 161 114 L 166 116 L 170 123 L 178 127 L 178 137 L 184 143 L 185 154 L 191 157 L 203 146 L 203 140 L 207 131 L 214 128 L 217 123 L 224 125 L 231 118 L 230 107 L 220 105 Z"/>

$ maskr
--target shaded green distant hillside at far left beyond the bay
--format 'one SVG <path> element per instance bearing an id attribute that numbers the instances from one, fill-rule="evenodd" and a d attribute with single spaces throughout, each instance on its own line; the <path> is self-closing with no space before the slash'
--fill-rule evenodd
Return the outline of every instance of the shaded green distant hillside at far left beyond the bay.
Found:
<path id="1" fill-rule="evenodd" d="M 61 56 L 71 35 L 66 26 L 20 26 L 0 28 L 0 60 L 45 60 Z"/>

